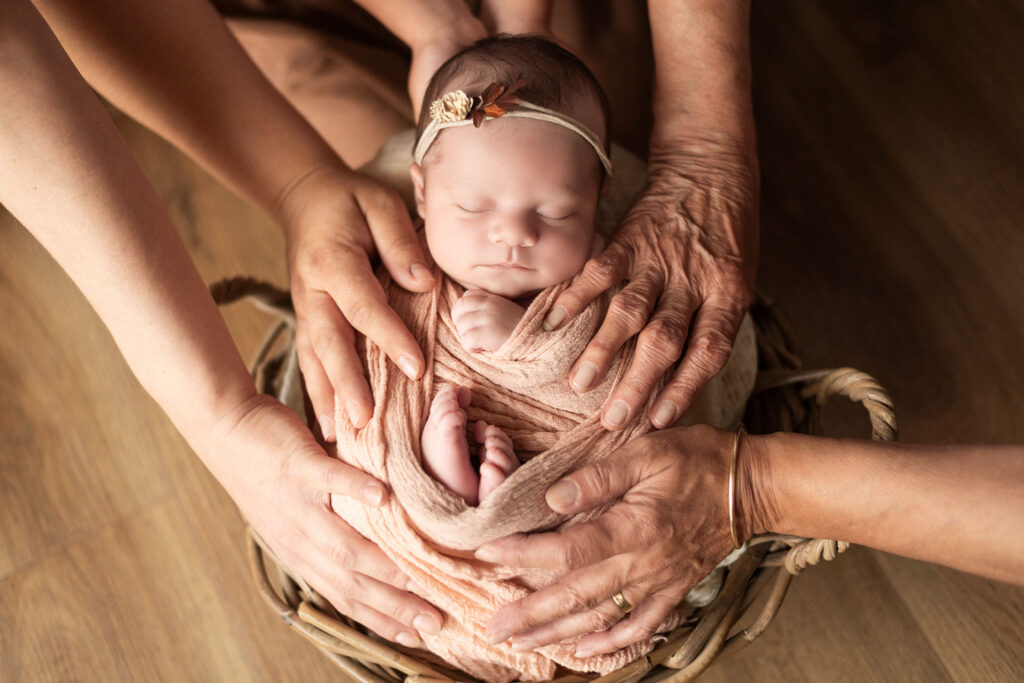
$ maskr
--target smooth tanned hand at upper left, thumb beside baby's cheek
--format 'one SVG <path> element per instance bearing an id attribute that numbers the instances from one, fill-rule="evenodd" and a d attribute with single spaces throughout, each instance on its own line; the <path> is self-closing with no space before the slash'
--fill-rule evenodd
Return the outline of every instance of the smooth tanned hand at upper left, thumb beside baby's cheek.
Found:
<path id="1" fill-rule="evenodd" d="M 434 280 L 406 205 L 378 180 L 321 165 L 293 183 L 278 206 L 288 240 L 299 367 L 324 438 L 333 440 L 336 397 L 356 427 L 373 413 L 354 331 L 379 344 L 411 379 L 424 369 L 423 352 L 387 305 L 371 257 L 379 253 L 408 290 L 425 292 Z"/>

